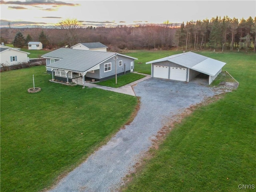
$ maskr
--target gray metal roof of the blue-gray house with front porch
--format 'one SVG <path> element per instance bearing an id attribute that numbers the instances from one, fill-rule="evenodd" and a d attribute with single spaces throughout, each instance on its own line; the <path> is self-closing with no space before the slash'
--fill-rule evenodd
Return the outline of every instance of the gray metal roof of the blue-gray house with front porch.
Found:
<path id="1" fill-rule="evenodd" d="M 114 52 L 101 52 L 90 50 L 78 50 L 71 48 L 60 48 L 42 55 L 43 58 L 60 59 L 47 67 L 63 70 L 86 72 L 90 68 L 114 57 Z M 118 54 L 121 55 L 121 54 Z M 123 55 L 124 56 L 124 55 Z M 126 56 L 128 58 L 132 58 Z M 133 58 L 136 59 L 136 58 Z"/>

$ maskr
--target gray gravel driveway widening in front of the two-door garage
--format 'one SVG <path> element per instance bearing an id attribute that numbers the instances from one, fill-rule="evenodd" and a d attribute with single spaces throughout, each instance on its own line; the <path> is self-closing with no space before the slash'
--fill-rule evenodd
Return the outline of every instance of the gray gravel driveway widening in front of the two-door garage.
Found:
<path id="1" fill-rule="evenodd" d="M 138 83 L 134 92 L 141 97 L 141 107 L 134 121 L 70 172 L 51 192 L 115 191 L 152 145 L 152 138 L 164 126 L 167 117 L 216 94 L 212 88 L 197 82 L 157 78 Z"/>

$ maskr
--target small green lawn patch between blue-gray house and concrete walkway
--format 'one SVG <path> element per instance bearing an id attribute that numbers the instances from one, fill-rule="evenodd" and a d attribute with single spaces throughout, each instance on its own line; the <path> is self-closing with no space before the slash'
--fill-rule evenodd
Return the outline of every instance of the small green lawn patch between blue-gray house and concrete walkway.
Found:
<path id="1" fill-rule="evenodd" d="M 118 88 L 118 87 L 127 85 L 131 82 L 134 82 L 136 80 L 139 80 L 141 78 L 144 78 L 144 77 L 145 77 L 145 75 L 141 75 L 141 74 L 137 74 L 137 73 L 128 73 L 125 75 L 117 76 L 117 84 L 116 84 L 115 77 L 111 78 L 109 80 L 106 80 L 106 81 L 97 82 L 96 84 Z"/>

